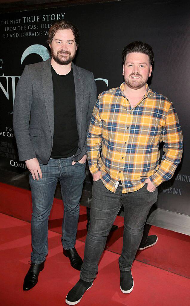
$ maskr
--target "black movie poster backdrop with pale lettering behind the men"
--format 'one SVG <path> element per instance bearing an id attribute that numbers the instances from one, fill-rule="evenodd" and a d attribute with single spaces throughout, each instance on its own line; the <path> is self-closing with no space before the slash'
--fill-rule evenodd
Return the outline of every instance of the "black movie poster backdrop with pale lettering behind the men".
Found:
<path id="1" fill-rule="evenodd" d="M 184 137 L 182 162 L 173 178 L 159 186 L 158 207 L 190 215 L 188 12 L 186 2 L 134 0 L 0 14 L 0 167 L 26 171 L 25 162 L 18 160 L 12 125 L 15 88 L 26 64 L 50 57 L 46 40 L 51 24 L 69 20 L 80 29 L 74 62 L 94 73 L 98 93 L 123 82 L 123 47 L 139 40 L 153 47 L 148 84 L 174 103 Z M 86 171 L 84 188 L 91 190 L 88 167 Z"/>

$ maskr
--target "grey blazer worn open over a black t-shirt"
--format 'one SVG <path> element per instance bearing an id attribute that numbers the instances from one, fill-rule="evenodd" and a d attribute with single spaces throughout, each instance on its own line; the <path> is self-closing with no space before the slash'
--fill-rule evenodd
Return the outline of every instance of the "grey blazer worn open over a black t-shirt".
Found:
<path id="1" fill-rule="evenodd" d="M 45 62 L 26 65 L 18 81 L 13 109 L 13 129 L 19 160 L 36 157 L 47 164 L 54 136 L 54 94 L 49 58 Z M 93 73 L 72 63 L 76 96 L 78 149 L 73 161 L 86 153 L 86 136 L 97 99 Z M 68 124 L 69 130 L 69 124 Z"/>

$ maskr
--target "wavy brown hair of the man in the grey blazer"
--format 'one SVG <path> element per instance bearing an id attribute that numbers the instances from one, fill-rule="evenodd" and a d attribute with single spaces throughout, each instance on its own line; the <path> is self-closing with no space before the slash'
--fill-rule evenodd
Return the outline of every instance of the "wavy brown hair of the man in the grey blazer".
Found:
<path id="1" fill-rule="evenodd" d="M 47 43 L 48 44 L 52 43 L 55 33 L 58 30 L 67 30 L 67 29 L 72 30 L 74 38 L 75 38 L 76 46 L 78 47 L 79 46 L 79 29 L 74 24 L 66 20 L 57 21 L 56 23 L 52 24 L 52 26 L 49 28 L 49 31 L 48 31 Z"/>

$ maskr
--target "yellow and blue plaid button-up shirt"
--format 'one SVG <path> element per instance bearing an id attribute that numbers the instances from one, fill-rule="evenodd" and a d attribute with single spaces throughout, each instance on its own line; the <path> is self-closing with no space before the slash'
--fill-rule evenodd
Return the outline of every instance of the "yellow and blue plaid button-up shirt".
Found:
<path id="1" fill-rule="evenodd" d="M 143 187 L 148 177 L 155 187 L 169 180 L 181 161 L 183 139 L 177 113 L 166 97 L 146 85 L 146 95 L 131 109 L 124 84 L 99 95 L 87 144 L 91 174 L 100 170 L 112 192 L 121 180 L 127 193 Z M 165 154 L 160 163 L 161 141 Z"/>

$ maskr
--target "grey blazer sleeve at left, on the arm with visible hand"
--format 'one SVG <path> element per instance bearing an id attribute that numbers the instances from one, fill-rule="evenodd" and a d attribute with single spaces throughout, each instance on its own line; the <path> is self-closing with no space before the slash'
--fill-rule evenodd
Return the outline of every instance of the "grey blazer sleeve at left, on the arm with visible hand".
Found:
<path id="1" fill-rule="evenodd" d="M 17 83 L 13 108 L 13 129 L 20 161 L 36 157 L 29 134 L 31 105 L 32 82 L 26 65 Z"/>

